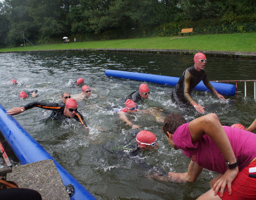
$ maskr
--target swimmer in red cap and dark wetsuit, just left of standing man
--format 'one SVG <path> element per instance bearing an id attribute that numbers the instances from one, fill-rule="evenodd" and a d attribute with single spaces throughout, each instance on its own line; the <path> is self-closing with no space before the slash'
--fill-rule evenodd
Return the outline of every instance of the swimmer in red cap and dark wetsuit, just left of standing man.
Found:
<path id="1" fill-rule="evenodd" d="M 143 99 L 147 99 L 148 95 L 150 94 L 149 92 L 149 87 L 147 84 L 142 83 L 139 86 L 138 91 L 134 91 L 131 94 L 129 94 L 126 99 L 132 99 L 137 105 L 143 101 Z"/>

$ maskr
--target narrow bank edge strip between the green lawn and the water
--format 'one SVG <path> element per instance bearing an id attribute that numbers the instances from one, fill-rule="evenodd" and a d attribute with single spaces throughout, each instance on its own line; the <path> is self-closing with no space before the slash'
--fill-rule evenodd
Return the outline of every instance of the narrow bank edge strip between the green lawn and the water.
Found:
<path id="1" fill-rule="evenodd" d="M 250 51 L 211 51 L 211 50 L 179 50 L 179 49 L 56 49 L 56 50 L 34 50 L 34 51 L 9 51 L 0 53 L 20 53 L 20 52 L 45 52 L 45 51 L 113 51 L 113 52 L 138 52 L 138 53 L 161 53 L 161 54 L 195 54 L 202 52 L 221 57 L 242 57 L 256 58 L 256 52 Z"/>

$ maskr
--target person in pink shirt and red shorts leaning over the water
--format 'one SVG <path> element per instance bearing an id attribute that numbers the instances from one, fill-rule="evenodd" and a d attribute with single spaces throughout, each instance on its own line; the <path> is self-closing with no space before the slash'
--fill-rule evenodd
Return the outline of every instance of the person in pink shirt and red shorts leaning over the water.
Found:
<path id="1" fill-rule="evenodd" d="M 256 199 L 256 134 L 222 126 L 215 114 L 186 123 L 168 116 L 162 128 L 167 141 L 191 159 L 185 173 L 169 172 L 169 179 L 195 182 L 203 169 L 218 172 L 211 189 L 198 199 Z"/>

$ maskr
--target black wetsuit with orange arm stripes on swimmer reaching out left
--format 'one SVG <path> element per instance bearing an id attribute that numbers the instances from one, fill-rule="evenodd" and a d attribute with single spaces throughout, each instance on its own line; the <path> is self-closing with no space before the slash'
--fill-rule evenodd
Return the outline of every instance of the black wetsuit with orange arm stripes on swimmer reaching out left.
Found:
<path id="1" fill-rule="evenodd" d="M 63 119 L 63 118 L 67 118 L 64 115 L 64 109 L 65 109 L 65 104 L 64 103 L 44 103 L 44 102 L 40 102 L 40 101 L 34 101 L 31 103 L 28 103 L 26 106 L 24 106 L 25 110 L 28 110 L 30 108 L 34 108 L 34 107 L 39 107 L 39 108 L 43 108 L 46 110 L 52 110 L 52 114 L 51 117 L 54 119 Z M 77 111 L 77 113 L 75 113 L 74 119 L 76 119 L 76 121 L 80 122 L 82 125 L 87 126 L 84 117 L 81 113 L 79 113 Z"/>

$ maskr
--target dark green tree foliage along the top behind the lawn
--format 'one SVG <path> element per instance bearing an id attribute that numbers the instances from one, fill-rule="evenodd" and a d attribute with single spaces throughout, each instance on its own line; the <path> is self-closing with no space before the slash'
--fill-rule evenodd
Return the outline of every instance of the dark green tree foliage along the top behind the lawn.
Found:
<path id="1" fill-rule="evenodd" d="M 107 39 L 256 31 L 255 0 L 5 0 L 0 2 L 0 46 L 63 36 Z M 81 40 L 80 39 L 80 40 Z"/>

